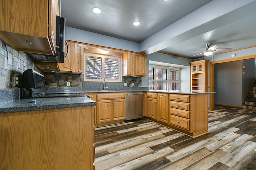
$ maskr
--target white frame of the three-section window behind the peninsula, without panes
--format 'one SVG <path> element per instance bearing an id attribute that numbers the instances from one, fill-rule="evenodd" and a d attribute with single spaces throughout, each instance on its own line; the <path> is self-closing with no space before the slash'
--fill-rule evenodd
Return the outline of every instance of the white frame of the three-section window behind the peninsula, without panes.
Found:
<path id="1" fill-rule="evenodd" d="M 176 68 L 176 67 L 169 67 L 169 66 L 161 66 L 161 65 L 154 65 L 154 64 L 149 64 L 148 66 L 148 70 L 149 68 L 152 67 L 154 68 L 153 69 L 153 79 L 150 79 L 150 75 L 148 75 L 148 84 L 149 84 L 149 88 L 150 88 L 150 82 L 153 82 L 154 84 L 154 91 L 158 91 L 157 90 L 157 82 L 167 82 L 167 90 L 161 90 L 161 91 L 180 91 L 180 68 Z M 156 69 L 157 68 L 162 68 L 162 69 L 167 69 L 167 80 L 156 80 Z M 178 80 L 169 80 L 170 78 L 170 70 L 178 70 Z M 148 71 L 150 72 L 150 71 Z M 179 90 L 170 90 L 170 82 L 178 82 L 179 86 L 178 86 L 178 89 Z M 149 90 L 152 90 L 152 89 L 149 89 Z"/>

